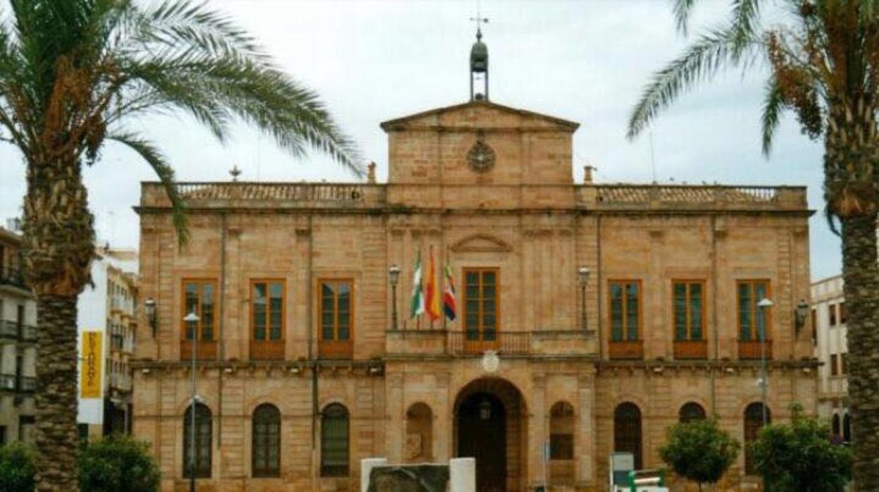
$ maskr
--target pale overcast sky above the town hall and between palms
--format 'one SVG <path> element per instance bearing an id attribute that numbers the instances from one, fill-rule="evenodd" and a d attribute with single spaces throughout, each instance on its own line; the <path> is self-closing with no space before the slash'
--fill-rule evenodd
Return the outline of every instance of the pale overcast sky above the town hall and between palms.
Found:
<path id="1" fill-rule="evenodd" d="M 469 97 L 468 55 L 476 0 L 294 1 L 214 0 L 252 33 L 284 69 L 319 92 L 364 157 L 387 173 L 381 121 L 460 103 Z M 704 0 L 693 32 L 726 14 L 727 0 Z M 650 133 L 625 138 L 630 108 L 650 74 L 679 54 L 671 0 L 483 0 L 490 54 L 490 96 L 499 104 L 581 123 L 574 136 L 574 173 L 596 165 L 599 182 L 648 183 Z M 839 239 L 821 199 L 821 147 L 784 121 L 775 151 L 760 153 L 759 114 L 764 73 L 740 72 L 686 94 L 652 127 L 660 182 L 805 185 L 813 278 L 840 271 Z M 270 138 L 241 127 L 222 146 L 185 116 L 134 121 L 171 158 L 179 180 L 226 180 L 233 164 L 242 180 L 351 181 L 321 155 L 290 158 Z M 0 217 L 18 215 L 25 190 L 17 151 L 0 148 Z M 98 236 L 113 246 L 137 246 L 141 180 L 149 167 L 110 143 L 85 170 Z"/>

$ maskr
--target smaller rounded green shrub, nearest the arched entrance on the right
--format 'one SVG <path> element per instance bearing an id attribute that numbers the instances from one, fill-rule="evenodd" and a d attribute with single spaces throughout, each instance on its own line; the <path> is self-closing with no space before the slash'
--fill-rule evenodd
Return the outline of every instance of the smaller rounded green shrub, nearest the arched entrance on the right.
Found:
<path id="1" fill-rule="evenodd" d="M 740 444 L 717 425 L 717 419 L 677 423 L 666 431 L 659 456 L 675 474 L 703 483 L 720 481 L 736 461 Z"/>

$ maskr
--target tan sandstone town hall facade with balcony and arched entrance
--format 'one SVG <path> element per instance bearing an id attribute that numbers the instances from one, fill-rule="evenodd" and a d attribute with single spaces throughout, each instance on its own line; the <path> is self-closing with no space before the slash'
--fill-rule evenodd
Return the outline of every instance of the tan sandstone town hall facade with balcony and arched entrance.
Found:
<path id="1" fill-rule="evenodd" d="M 588 170 L 575 184 L 577 127 L 478 99 L 386 121 L 387 183 L 180 184 L 182 247 L 163 188 L 144 183 L 156 323 L 138 324 L 134 434 L 163 490 L 187 487 L 191 447 L 202 490 L 355 491 L 376 456 L 476 456 L 483 491 L 607 490 L 611 452 L 659 466 L 681 418 L 755 434 L 763 327 L 771 419 L 793 402 L 814 413 L 811 330 L 795 319 L 805 189 Z M 410 319 L 419 256 L 439 289 L 449 267 L 456 319 Z M 723 489 L 756 487 L 746 467 Z"/>

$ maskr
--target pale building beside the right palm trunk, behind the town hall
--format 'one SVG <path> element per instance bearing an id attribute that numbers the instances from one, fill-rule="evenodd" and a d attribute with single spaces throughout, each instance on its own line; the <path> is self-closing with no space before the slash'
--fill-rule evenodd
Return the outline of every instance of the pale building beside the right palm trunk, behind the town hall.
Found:
<path id="1" fill-rule="evenodd" d="M 830 420 L 833 433 L 851 437 L 848 416 L 848 338 L 842 275 L 812 283 L 812 327 L 818 368 L 818 415 Z"/>

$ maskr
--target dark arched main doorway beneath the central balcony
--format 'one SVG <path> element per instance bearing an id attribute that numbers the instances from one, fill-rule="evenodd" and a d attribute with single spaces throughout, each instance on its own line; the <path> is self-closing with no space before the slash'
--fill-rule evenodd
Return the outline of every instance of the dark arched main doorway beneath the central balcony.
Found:
<path id="1" fill-rule="evenodd" d="M 454 455 L 476 459 L 476 490 L 524 490 L 526 415 L 521 393 L 504 379 L 476 379 L 458 393 Z"/>

